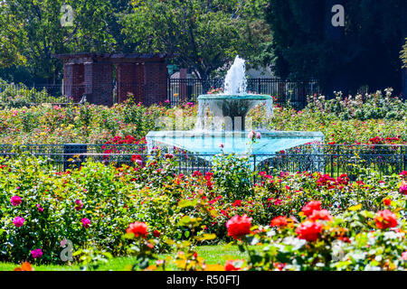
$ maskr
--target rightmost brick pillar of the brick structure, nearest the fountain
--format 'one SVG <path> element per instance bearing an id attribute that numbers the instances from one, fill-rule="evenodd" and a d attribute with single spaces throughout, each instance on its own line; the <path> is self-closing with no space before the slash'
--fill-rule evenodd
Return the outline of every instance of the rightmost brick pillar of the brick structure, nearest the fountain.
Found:
<path id="1" fill-rule="evenodd" d="M 145 64 L 145 95 L 143 104 L 150 106 L 164 102 L 167 98 L 168 70 L 166 61 L 146 62 Z"/>

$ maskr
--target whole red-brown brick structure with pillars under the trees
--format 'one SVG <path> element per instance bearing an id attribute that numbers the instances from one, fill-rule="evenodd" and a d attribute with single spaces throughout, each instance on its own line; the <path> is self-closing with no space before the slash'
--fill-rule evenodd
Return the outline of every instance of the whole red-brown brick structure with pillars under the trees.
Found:
<path id="1" fill-rule="evenodd" d="M 146 106 L 167 98 L 168 70 L 161 56 L 61 54 L 64 60 L 64 94 L 80 102 L 86 95 L 95 105 L 113 105 L 113 66 L 117 65 L 118 103 L 135 96 Z"/>

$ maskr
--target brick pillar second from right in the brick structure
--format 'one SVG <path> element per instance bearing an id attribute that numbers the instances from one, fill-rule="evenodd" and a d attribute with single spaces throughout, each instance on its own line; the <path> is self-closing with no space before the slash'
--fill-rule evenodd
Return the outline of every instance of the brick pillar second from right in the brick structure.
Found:
<path id="1" fill-rule="evenodd" d="M 144 63 L 119 63 L 118 75 L 118 103 L 128 99 L 128 93 L 135 97 L 135 101 L 143 102 L 144 98 Z"/>

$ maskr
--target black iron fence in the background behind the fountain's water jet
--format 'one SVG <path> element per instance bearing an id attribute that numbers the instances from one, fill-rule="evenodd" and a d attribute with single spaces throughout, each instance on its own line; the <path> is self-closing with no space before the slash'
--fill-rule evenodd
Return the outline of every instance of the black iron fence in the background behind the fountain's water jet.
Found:
<path id="1" fill-rule="evenodd" d="M 210 79 L 206 83 L 208 88 L 222 88 L 224 79 Z M 171 104 L 179 102 L 196 102 L 197 98 L 205 94 L 204 86 L 199 79 L 169 79 L 168 99 Z M 253 93 L 271 95 L 279 104 L 288 102 L 293 107 L 302 108 L 307 105 L 307 96 L 319 93 L 317 80 L 294 82 L 284 79 L 248 79 L 247 90 Z"/>

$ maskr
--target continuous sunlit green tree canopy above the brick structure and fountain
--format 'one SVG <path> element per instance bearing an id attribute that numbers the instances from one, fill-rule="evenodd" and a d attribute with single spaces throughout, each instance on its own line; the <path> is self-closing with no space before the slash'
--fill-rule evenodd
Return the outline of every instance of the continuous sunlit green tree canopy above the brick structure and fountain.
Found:
<path id="1" fill-rule="evenodd" d="M 0 77 L 61 77 L 52 54 L 163 51 L 202 79 L 236 54 L 259 63 L 270 43 L 266 0 L 5 0 L 0 7 Z M 61 24 L 62 5 L 74 11 Z M 270 51 L 266 51 L 270 55 Z M 9 68 L 8 70 L 6 68 Z M 28 82 L 28 81 L 27 81 Z"/>

